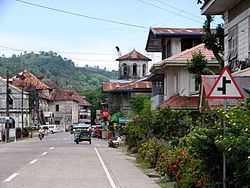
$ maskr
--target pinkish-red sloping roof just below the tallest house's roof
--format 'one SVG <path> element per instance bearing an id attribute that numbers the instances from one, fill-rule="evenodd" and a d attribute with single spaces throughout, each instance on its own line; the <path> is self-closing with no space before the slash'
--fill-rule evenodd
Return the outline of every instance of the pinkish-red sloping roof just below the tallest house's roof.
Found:
<path id="1" fill-rule="evenodd" d="M 214 54 L 211 50 L 208 50 L 207 48 L 205 48 L 205 45 L 204 44 L 199 44 L 197 46 L 194 46 L 193 48 L 190 48 L 190 49 L 186 49 L 180 53 L 177 53 L 165 60 L 163 60 L 164 62 L 167 62 L 167 61 L 187 61 L 187 60 L 190 60 L 192 59 L 192 55 L 194 52 L 201 52 L 205 58 L 207 60 L 213 60 L 215 59 L 214 57 Z"/>

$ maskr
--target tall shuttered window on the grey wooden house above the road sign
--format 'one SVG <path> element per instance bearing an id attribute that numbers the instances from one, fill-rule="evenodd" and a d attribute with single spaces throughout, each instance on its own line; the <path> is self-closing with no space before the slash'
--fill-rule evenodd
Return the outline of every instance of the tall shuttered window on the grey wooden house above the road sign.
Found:
<path id="1" fill-rule="evenodd" d="M 233 70 L 237 68 L 237 52 L 238 52 L 238 26 L 228 30 L 228 64 Z"/>

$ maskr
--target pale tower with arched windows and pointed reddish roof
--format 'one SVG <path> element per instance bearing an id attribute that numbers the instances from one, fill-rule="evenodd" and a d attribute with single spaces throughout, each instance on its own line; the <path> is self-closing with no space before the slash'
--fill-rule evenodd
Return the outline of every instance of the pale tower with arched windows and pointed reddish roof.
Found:
<path id="1" fill-rule="evenodd" d="M 119 80 L 138 80 L 147 75 L 150 58 L 137 52 L 135 49 L 116 59 L 119 61 Z"/>

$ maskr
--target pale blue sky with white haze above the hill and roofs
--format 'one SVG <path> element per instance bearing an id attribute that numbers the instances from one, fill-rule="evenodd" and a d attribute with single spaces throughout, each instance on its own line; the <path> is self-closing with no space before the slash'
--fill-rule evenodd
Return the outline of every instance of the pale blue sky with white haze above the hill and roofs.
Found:
<path id="1" fill-rule="evenodd" d="M 54 51 L 79 67 L 117 70 L 119 46 L 122 55 L 136 49 L 152 65 L 161 57 L 145 51 L 149 28 L 202 27 L 196 1 L 0 0 L 0 55 Z"/>

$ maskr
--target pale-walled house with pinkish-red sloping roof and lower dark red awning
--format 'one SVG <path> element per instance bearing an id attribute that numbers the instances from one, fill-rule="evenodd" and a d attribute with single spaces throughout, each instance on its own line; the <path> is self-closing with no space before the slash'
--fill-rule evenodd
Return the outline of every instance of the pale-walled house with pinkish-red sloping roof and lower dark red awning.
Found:
<path id="1" fill-rule="evenodd" d="M 159 94 L 152 97 L 153 109 L 169 105 L 173 108 L 198 110 L 200 87 L 195 82 L 194 75 L 187 70 L 188 60 L 192 59 L 194 52 L 201 52 L 208 61 L 207 66 L 214 73 L 219 72 L 219 65 L 213 52 L 206 49 L 204 44 L 186 49 L 154 64 L 150 71 L 154 75 L 163 75 L 164 85 L 161 87 L 164 89 L 161 90 L 162 101 L 159 100 Z"/>

